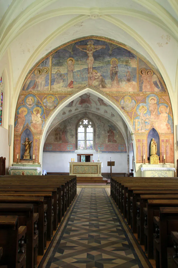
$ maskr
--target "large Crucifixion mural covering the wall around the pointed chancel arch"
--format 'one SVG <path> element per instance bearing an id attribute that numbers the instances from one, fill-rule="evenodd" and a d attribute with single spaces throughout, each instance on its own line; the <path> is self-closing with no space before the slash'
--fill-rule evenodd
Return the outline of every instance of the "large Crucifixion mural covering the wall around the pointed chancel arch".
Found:
<path id="1" fill-rule="evenodd" d="M 174 156 L 170 154 L 173 151 L 172 108 L 158 69 L 132 48 L 101 36 L 87 36 L 61 45 L 29 71 L 16 107 L 14 161 L 21 151 L 22 133 L 29 129 L 33 136 L 35 162 L 38 162 L 43 129 L 54 109 L 70 95 L 88 87 L 100 92 L 101 98 L 96 100 L 89 93 L 81 94 L 65 107 L 60 114 L 61 120 L 70 113 L 77 114 L 82 108 L 87 111 L 93 107 L 96 113 L 102 107 L 106 118 L 117 116 L 117 112 L 111 111 L 102 99 L 104 95 L 117 105 L 135 130 L 138 163 L 143 161 L 143 154 L 148 155 L 147 138 L 152 128 L 160 138 L 160 162 L 163 154 L 166 162 L 174 162 Z M 73 146 L 75 142 L 64 135 L 66 131 L 67 126 L 63 126 L 63 139 Z M 112 127 L 106 134 L 109 138 L 104 138 L 107 140 L 105 144 L 118 143 Z M 62 141 L 62 132 L 60 135 Z M 113 151 L 111 147 L 109 150 Z"/>

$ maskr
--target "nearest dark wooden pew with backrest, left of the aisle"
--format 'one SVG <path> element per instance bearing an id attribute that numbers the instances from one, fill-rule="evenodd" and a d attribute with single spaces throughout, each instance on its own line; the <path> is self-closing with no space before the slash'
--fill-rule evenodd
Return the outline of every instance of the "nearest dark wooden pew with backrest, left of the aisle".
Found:
<path id="1" fill-rule="evenodd" d="M 0 245 L 3 247 L 0 265 L 26 268 L 25 233 L 26 226 L 18 226 L 18 216 L 0 216 Z"/>

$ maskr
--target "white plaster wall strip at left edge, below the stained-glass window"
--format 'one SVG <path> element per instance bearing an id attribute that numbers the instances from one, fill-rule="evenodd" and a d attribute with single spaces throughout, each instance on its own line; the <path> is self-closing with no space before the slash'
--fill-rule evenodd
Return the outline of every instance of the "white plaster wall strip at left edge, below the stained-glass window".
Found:
<path id="1" fill-rule="evenodd" d="M 6 158 L 6 173 L 9 168 L 9 133 L 8 129 L 0 126 L 0 137 L 1 137 L 1 146 L 0 146 L 0 157 Z"/>

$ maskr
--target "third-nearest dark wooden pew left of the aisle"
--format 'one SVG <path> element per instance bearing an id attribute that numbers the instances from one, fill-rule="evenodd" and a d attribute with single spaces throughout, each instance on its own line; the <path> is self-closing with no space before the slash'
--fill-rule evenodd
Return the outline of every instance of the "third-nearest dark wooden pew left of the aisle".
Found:
<path id="1" fill-rule="evenodd" d="M 1 203 L 27 203 L 33 204 L 34 212 L 38 213 L 38 254 L 44 254 L 44 248 L 46 247 L 46 232 L 47 232 L 47 221 L 45 218 L 45 211 L 47 205 L 44 204 L 43 197 L 37 196 L 0 196 Z"/>

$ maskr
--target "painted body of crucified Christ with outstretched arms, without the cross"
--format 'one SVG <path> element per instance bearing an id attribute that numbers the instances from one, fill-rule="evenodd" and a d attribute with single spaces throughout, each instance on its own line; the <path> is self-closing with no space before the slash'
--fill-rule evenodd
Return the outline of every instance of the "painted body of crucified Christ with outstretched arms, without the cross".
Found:
<path id="1" fill-rule="evenodd" d="M 97 49 L 94 49 L 94 45 L 89 44 L 85 49 L 80 48 L 79 46 L 76 46 L 77 49 L 80 49 L 81 51 L 86 52 L 86 54 L 88 55 L 88 59 L 87 59 L 87 63 L 88 63 L 88 76 L 92 77 L 92 70 L 93 70 L 93 62 L 94 62 L 94 58 L 93 58 L 93 52 L 97 51 L 99 49 L 105 48 L 105 46 L 100 46 Z"/>

